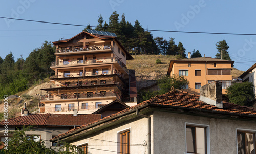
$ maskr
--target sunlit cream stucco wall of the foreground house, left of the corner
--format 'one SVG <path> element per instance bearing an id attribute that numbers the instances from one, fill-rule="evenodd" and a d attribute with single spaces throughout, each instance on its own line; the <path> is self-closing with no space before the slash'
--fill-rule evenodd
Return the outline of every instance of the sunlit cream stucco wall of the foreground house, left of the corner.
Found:
<path id="1" fill-rule="evenodd" d="M 152 118 L 153 119 L 153 118 Z M 152 120 L 153 123 L 153 120 Z M 88 144 L 88 153 L 90 154 L 105 154 L 117 153 L 120 146 L 118 146 L 118 132 L 126 130 L 131 131 L 131 144 L 144 144 L 147 141 L 147 119 L 142 118 L 131 123 L 122 123 L 119 126 L 112 126 L 100 131 L 91 136 L 85 136 L 84 139 L 75 141 L 73 145 Z M 100 140 L 95 140 L 100 139 Z M 111 141 L 111 142 L 109 142 Z M 147 153 L 147 147 L 142 145 L 131 145 L 131 153 Z M 100 150 L 101 149 L 101 150 Z M 115 152 L 111 152 L 115 151 Z"/>

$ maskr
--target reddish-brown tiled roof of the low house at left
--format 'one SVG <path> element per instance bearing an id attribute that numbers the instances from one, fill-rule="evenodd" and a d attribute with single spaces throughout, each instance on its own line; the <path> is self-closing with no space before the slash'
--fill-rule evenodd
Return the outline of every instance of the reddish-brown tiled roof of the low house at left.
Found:
<path id="1" fill-rule="evenodd" d="M 28 116 L 19 116 L 8 119 L 8 121 L 0 121 L 0 125 L 9 122 L 9 126 L 17 125 L 55 125 L 55 126 L 80 126 L 101 119 L 100 114 L 29 114 Z"/>

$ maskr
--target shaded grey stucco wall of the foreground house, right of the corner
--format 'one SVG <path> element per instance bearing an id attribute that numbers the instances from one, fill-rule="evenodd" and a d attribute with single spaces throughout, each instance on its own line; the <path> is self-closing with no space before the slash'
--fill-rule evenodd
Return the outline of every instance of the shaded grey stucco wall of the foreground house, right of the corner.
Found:
<path id="1" fill-rule="evenodd" d="M 154 153 L 185 153 L 186 123 L 208 125 L 210 153 L 237 153 L 237 128 L 256 130 L 256 123 L 154 112 Z"/>

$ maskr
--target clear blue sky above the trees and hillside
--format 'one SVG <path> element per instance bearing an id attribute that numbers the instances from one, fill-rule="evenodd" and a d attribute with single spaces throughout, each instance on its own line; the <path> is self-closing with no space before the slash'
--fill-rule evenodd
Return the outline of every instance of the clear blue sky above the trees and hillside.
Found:
<path id="1" fill-rule="evenodd" d="M 101 14 L 108 22 L 113 11 L 124 13 L 126 20 L 134 24 L 137 19 L 144 29 L 248 33 L 256 34 L 256 1 L 2 1 L 1 17 L 28 20 L 50 21 L 56 23 L 91 26 L 98 24 Z M 41 47 L 42 42 L 71 38 L 84 27 L 65 26 L 28 21 L 0 19 L 0 56 L 11 51 L 15 60 L 23 55 L 29 56 L 33 49 Z M 169 40 L 175 38 L 176 44 L 182 42 L 186 54 L 199 50 L 202 55 L 215 57 L 216 42 L 225 39 L 230 46 L 229 54 L 235 61 L 234 67 L 246 71 L 256 60 L 256 36 L 189 34 L 173 32 L 152 32 L 154 37 Z M 253 61 L 253 62 L 249 62 Z"/>

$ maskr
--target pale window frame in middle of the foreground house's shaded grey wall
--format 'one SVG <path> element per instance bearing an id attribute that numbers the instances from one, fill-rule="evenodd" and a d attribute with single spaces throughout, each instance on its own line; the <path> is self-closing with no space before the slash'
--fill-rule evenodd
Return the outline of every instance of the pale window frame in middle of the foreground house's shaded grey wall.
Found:
<path id="1" fill-rule="evenodd" d="M 185 122 L 185 146 L 186 146 L 186 152 L 185 153 L 188 153 L 187 152 L 187 126 L 190 126 L 190 127 L 199 127 L 199 128 L 205 128 L 206 129 L 206 134 L 205 134 L 205 144 L 206 144 L 206 154 L 209 154 L 210 153 L 210 126 L 209 125 L 204 125 L 204 124 L 195 124 L 195 123 L 187 123 Z"/>

